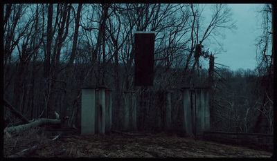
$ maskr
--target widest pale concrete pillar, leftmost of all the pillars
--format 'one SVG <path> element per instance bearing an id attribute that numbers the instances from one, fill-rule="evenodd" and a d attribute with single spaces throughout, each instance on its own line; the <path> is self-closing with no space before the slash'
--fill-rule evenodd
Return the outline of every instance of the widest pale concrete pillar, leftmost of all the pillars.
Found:
<path id="1" fill-rule="evenodd" d="M 81 135 L 95 134 L 95 87 L 82 87 Z"/>

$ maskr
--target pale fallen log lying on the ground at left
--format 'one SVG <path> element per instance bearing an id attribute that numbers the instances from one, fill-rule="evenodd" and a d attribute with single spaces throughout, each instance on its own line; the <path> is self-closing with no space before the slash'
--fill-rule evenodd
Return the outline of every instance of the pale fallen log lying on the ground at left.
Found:
<path id="1" fill-rule="evenodd" d="M 21 124 L 19 126 L 7 127 L 4 131 L 10 133 L 11 135 L 18 135 L 23 131 L 32 129 L 36 126 L 42 126 L 45 124 L 52 124 L 52 125 L 60 124 L 60 120 L 41 118 L 39 120 L 35 120 L 34 122 L 30 122 L 28 124 Z"/>

